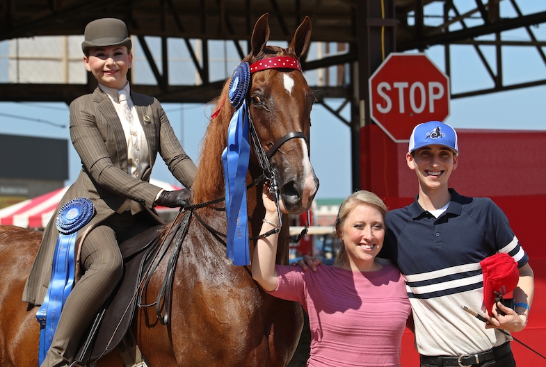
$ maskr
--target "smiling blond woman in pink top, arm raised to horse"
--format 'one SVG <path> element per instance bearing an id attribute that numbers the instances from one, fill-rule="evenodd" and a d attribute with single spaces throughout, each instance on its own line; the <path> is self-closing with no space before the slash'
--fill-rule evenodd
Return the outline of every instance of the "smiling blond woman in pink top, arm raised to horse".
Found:
<path id="1" fill-rule="evenodd" d="M 278 215 L 265 186 L 262 197 L 265 233 Z M 383 201 L 369 191 L 347 197 L 335 223 L 341 249 L 332 266 L 319 266 L 316 272 L 275 265 L 276 234 L 257 241 L 252 277 L 271 295 L 300 302 L 309 316 L 307 366 L 401 366 L 402 333 L 411 311 L 406 285 L 397 268 L 375 261 L 386 212 Z"/>

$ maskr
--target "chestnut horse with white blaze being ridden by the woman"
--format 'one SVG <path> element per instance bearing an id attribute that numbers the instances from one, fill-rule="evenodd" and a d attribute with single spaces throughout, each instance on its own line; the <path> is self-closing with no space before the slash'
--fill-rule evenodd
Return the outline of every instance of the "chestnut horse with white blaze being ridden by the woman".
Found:
<path id="1" fill-rule="evenodd" d="M 277 56 L 299 59 L 307 49 L 310 33 L 306 17 L 287 49 L 268 47 L 269 26 L 267 15 L 263 15 L 252 32 L 252 51 L 243 61 L 252 64 Z M 193 186 L 194 203 L 224 195 L 221 154 L 234 114 L 227 98 L 229 84 L 225 83 L 217 99 L 218 113 L 204 137 Z M 319 185 L 306 139 L 312 90 L 299 70 L 264 70 L 251 74 L 247 100 L 259 145 L 270 153 L 268 163 L 278 181 L 280 199 L 289 213 L 303 213 L 310 208 Z M 275 145 L 280 139 L 280 146 Z M 258 161 L 257 153 L 252 152 L 247 183 L 262 176 Z M 248 231 L 256 236 L 264 216 L 262 184 L 250 187 L 247 197 Z M 196 215 L 191 218 L 179 250 L 167 325 L 159 322 L 154 308 L 136 311 L 132 331 L 150 366 L 286 366 L 296 350 L 303 327 L 302 308 L 264 293 L 247 266 L 234 266 L 227 259 L 225 245 L 211 231 L 226 231 L 225 211 L 218 210 L 223 206 L 218 203 L 192 209 L 201 221 Z M 41 239 L 38 231 L 0 227 L 0 366 L 38 366 L 38 308 L 27 311 L 21 297 Z M 250 258 L 253 245 L 251 240 Z M 278 263 L 288 263 L 287 226 L 281 229 L 278 248 Z M 152 276 L 143 295 L 145 303 L 156 299 L 168 257 Z M 123 364 L 115 352 L 99 359 L 97 366 Z"/>

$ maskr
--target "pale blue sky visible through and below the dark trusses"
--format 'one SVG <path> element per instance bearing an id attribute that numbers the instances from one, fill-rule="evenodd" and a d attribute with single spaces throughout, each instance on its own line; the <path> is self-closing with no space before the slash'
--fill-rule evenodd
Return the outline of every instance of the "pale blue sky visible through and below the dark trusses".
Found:
<path id="1" fill-rule="evenodd" d="M 467 6 L 474 6 L 474 1 L 460 1 Z M 507 1 L 501 1 L 507 3 Z M 539 4 L 540 3 L 540 4 Z M 524 14 L 544 11 L 546 4 L 542 1 L 519 0 Z M 464 13 L 464 8 L 460 11 Z M 428 8 L 434 13 L 434 8 Z M 509 13 L 508 10 L 504 10 Z M 513 16 L 513 15 L 506 15 Z M 533 26 L 533 32 L 538 40 L 546 40 L 546 24 Z M 523 29 L 504 32 L 506 40 L 529 40 L 529 35 Z M 491 39 L 484 37 L 483 39 Z M 275 44 L 275 42 L 270 42 Z M 278 43 L 277 43 L 278 44 Z M 6 48 L 5 42 L 0 43 Z M 312 51 L 312 50 L 310 50 Z M 495 67 L 495 49 L 482 47 L 482 51 Z M 546 48 L 545 48 L 546 51 Z M 5 51 L 4 51 L 5 52 Z M 451 70 L 451 93 L 491 88 L 490 76 L 479 62 L 472 46 L 456 45 L 451 47 L 453 56 Z M 434 63 L 443 69 L 442 47 L 431 47 L 426 54 Z M 538 51 L 527 47 L 504 47 L 504 80 L 506 84 L 523 83 L 538 79 L 546 79 L 546 65 L 540 58 Z M 0 70 L 5 60 L 0 59 Z M 224 67 L 220 74 L 231 73 L 238 61 Z M 227 64 L 226 64 L 227 65 Z M 83 69 L 83 62 L 81 63 Z M 494 72 L 495 69 L 494 69 Z M 220 75 L 221 77 L 221 75 Z M 312 83 L 316 79 L 316 72 L 310 72 L 307 79 Z M 0 75 L 1 79 L 1 75 Z M 5 82 L 5 81 L 0 81 Z M 218 93 L 220 91 L 218 90 Z M 497 92 L 479 97 L 467 97 L 451 101 L 451 115 L 445 122 L 455 128 L 464 129 L 525 129 L 546 130 L 546 85 Z M 332 106 L 342 101 L 329 101 Z M 202 104 L 163 104 L 175 133 L 182 141 L 186 152 L 198 161 L 198 149 L 204 130 L 206 129 L 210 111 Z M 342 111 L 348 120 L 348 108 Z M 8 117 L 15 115 L 19 118 Z M 29 118 L 31 120 L 22 120 Z M 351 193 L 351 153 L 350 132 L 346 125 L 337 120 L 337 117 L 326 111 L 320 104 L 315 104 L 312 112 L 311 127 L 311 160 L 321 187 L 318 198 L 340 198 Z M 41 120 L 38 122 L 37 120 Z M 70 140 L 68 131 L 68 106 L 62 103 L 17 103 L 0 102 L 0 133 L 24 136 L 41 136 L 46 138 L 65 138 Z M 64 126 L 64 127 L 61 127 Z M 170 172 L 161 161 L 154 167 L 152 177 L 176 183 Z M 72 183 L 81 168 L 79 157 L 70 144 L 69 152 L 70 177 Z"/>

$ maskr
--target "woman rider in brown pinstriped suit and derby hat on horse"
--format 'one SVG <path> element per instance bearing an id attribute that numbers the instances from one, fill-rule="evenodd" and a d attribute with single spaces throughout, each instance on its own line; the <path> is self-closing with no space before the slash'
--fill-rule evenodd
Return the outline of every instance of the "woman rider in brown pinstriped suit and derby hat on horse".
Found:
<path id="1" fill-rule="evenodd" d="M 45 229 L 24 289 L 25 302 L 44 302 L 59 237 L 58 211 L 70 200 L 86 197 L 95 215 L 78 232 L 81 277 L 66 300 L 42 367 L 68 366 L 74 359 L 83 332 L 122 277 L 118 242 L 162 223 L 154 206 L 186 204 L 189 190 L 165 191 L 148 182 L 157 153 L 186 188 L 196 171 L 159 101 L 129 88 L 133 55 L 125 23 L 108 18 L 90 22 L 81 47 L 86 70 L 99 83 L 93 93 L 70 104 L 70 136 L 83 167 Z"/>

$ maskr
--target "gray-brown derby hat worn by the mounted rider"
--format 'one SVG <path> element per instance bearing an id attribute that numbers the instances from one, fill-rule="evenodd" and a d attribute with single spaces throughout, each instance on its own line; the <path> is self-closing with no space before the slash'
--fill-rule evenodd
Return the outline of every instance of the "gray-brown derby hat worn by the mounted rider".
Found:
<path id="1" fill-rule="evenodd" d="M 127 26 L 120 19 L 102 18 L 93 20 L 86 26 L 85 40 L 81 49 L 85 54 L 91 47 L 126 46 L 131 49 L 131 38 Z"/>

